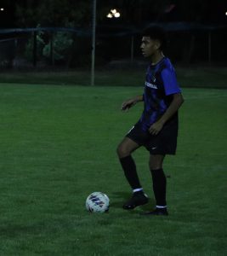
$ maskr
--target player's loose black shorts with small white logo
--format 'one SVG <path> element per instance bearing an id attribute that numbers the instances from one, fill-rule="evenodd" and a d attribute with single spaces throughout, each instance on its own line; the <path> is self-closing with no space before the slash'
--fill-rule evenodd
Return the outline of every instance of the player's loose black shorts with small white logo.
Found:
<path id="1" fill-rule="evenodd" d="M 129 137 L 139 146 L 144 146 L 150 154 L 176 154 L 178 121 L 174 120 L 167 123 L 157 135 L 143 131 L 141 123 L 138 122 L 128 131 L 126 137 Z"/>

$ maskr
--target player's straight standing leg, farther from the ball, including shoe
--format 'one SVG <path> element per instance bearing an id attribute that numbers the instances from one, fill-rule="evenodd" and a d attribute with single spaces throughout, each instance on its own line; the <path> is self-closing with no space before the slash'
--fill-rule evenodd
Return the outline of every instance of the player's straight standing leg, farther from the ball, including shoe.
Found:
<path id="1" fill-rule="evenodd" d="M 144 215 L 167 215 L 167 177 L 163 172 L 162 163 L 165 158 L 163 154 L 150 154 L 150 172 L 153 181 L 153 190 L 156 198 L 156 210 L 145 212 Z"/>

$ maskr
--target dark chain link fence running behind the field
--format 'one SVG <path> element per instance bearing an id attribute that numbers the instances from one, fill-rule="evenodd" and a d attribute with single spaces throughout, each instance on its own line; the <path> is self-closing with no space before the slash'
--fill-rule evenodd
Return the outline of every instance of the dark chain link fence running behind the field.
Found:
<path id="1" fill-rule="evenodd" d="M 224 63 L 227 58 L 226 27 L 167 27 L 166 54 L 179 63 Z M 98 26 L 96 67 L 139 65 L 139 30 Z M 218 50 L 217 50 L 218 49 Z M 75 28 L 0 30 L 0 68 L 87 68 L 91 63 L 91 32 Z"/>

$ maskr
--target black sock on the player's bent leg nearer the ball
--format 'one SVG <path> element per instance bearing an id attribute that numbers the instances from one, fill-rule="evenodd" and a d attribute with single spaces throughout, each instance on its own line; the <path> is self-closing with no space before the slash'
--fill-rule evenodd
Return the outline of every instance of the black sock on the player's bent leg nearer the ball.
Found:
<path id="1" fill-rule="evenodd" d="M 131 155 L 120 158 L 122 164 L 122 169 L 124 171 L 125 177 L 128 180 L 132 189 L 139 189 L 141 185 L 139 183 L 139 177 L 136 172 L 136 166 Z"/>

